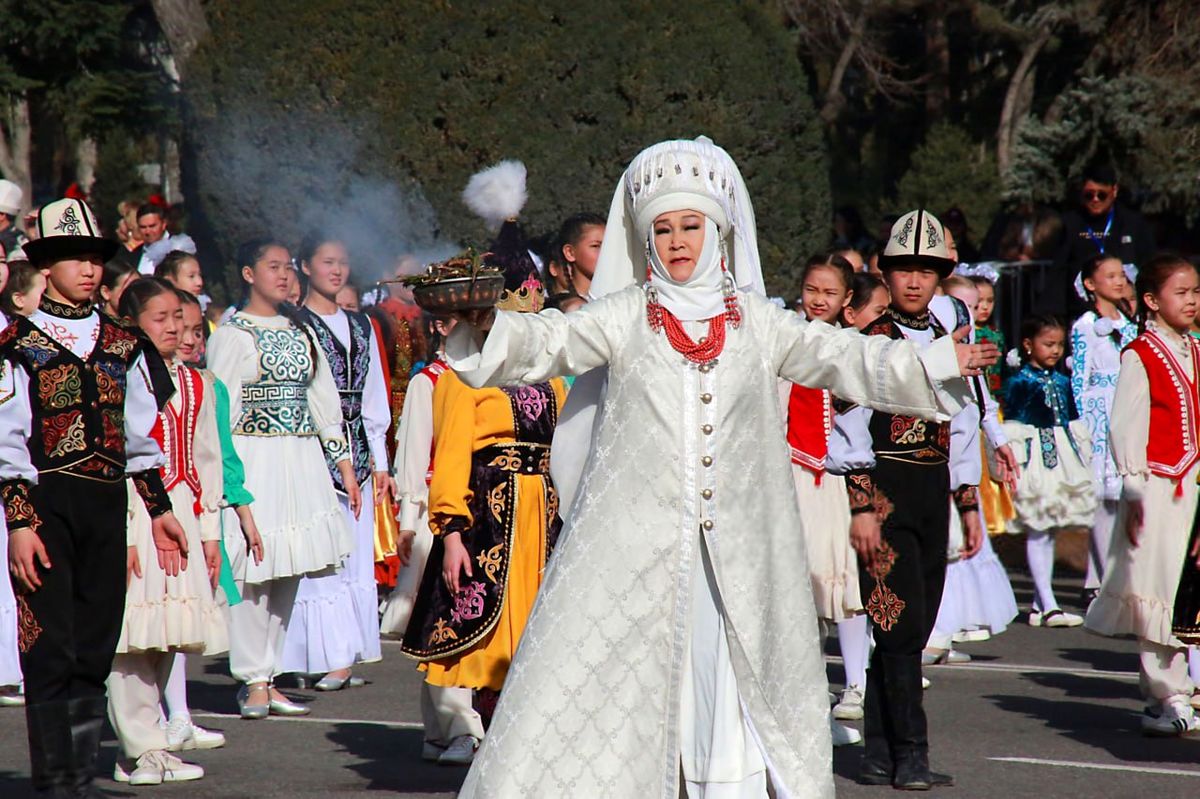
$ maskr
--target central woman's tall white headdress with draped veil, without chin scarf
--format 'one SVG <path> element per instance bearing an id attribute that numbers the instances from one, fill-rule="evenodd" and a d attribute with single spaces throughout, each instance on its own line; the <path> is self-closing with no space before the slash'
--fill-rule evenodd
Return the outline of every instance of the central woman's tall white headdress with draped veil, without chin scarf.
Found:
<path id="1" fill-rule="evenodd" d="M 730 154 L 708 137 L 660 142 L 629 164 L 608 208 L 600 258 L 588 296 L 598 300 L 646 280 L 646 244 L 654 218 L 689 209 L 721 230 L 738 288 L 766 294 L 758 234 L 745 181 Z"/>

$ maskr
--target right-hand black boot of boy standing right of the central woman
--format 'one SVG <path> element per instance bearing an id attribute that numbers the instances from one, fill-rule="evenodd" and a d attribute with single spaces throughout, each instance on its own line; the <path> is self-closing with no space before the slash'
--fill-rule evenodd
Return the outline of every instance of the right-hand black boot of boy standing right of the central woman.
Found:
<path id="1" fill-rule="evenodd" d="M 883 655 L 887 717 L 892 723 L 892 787 L 929 791 L 929 728 L 920 687 L 920 655 Z"/>

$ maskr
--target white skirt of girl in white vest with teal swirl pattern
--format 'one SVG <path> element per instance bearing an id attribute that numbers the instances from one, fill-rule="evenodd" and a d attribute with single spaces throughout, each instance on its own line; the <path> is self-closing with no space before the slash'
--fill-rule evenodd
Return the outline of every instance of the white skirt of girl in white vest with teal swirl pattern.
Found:
<path id="1" fill-rule="evenodd" d="M 280 577 L 328 572 L 354 548 L 346 512 L 334 491 L 316 435 L 234 435 L 246 467 L 246 488 L 263 563 L 246 558 L 236 579 L 265 583 Z"/>

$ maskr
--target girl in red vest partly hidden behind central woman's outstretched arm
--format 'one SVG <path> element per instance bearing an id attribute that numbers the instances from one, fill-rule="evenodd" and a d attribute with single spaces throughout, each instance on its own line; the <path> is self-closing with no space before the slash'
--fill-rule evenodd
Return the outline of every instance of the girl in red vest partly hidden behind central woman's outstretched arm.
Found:
<path id="1" fill-rule="evenodd" d="M 841 256 L 811 259 L 800 272 L 800 311 L 809 320 L 838 325 L 851 301 L 853 268 Z M 835 719 L 862 719 L 870 648 L 866 614 L 858 593 L 858 555 L 850 546 L 846 479 L 826 471 L 833 397 L 822 389 L 790 383 L 784 402 L 792 477 L 799 500 L 809 575 L 817 617 L 838 625 L 846 689 L 833 709 Z M 834 746 L 857 744 L 857 729 L 832 723 Z"/>

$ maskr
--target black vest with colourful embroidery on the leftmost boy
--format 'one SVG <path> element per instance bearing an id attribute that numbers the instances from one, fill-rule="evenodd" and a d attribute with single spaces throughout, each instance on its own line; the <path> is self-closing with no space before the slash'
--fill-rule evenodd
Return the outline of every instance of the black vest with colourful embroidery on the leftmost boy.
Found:
<path id="1" fill-rule="evenodd" d="M 25 317 L 0 335 L 0 353 L 29 373 L 29 452 L 38 474 L 125 479 L 125 388 L 140 342 L 98 316 L 96 346 L 84 360 Z"/>

